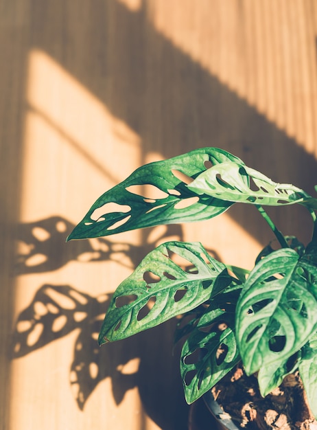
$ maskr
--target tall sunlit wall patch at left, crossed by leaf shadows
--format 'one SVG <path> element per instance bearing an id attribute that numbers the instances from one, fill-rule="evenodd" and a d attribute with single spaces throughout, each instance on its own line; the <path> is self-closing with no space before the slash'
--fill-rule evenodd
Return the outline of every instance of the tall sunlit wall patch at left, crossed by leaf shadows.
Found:
<path id="1" fill-rule="evenodd" d="M 148 418 L 137 388 L 116 405 L 113 375 L 96 357 L 106 294 L 130 273 L 139 234 L 117 245 L 65 239 L 99 194 L 139 166 L 141 140 L 45 52 L 31 50 L 27 65 L 10 425 L 124 429 L 128 419 L 139 429 Z M 125 358 L 118 374 L 135 361 Z"/>

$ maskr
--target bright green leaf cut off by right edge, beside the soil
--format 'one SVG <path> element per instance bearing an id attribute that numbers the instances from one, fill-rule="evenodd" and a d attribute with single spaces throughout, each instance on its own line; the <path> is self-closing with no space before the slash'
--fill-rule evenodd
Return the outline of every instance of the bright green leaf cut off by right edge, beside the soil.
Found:
<path id="1" fill-rule="evenodd" d="M 301 349 L 298 368 L 310 409 L 317 420 L 317 332 L 309 337 L 309 341 Z"/>

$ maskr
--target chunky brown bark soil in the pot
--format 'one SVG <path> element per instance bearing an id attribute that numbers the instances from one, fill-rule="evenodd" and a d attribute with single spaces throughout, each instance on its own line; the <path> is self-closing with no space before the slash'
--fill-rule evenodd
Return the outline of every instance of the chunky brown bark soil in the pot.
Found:
<path id="1" fill-rule="evenodd" d="M 252 430 L 317 430 L 298 372 L 263 398 L 255 376 L 237 366 L 212 389 L 226 414 L 238 427 Z"/>

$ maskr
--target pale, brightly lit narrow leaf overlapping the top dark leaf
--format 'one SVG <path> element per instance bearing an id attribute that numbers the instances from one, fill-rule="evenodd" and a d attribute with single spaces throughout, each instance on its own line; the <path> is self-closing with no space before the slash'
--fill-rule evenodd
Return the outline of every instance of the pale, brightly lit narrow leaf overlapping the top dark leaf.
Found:
<path id="1" fill-rule="evenodd" d="M 257 205 L 290 205 L 309 198 L 300 188 L 271 181 L 239 161 L 228 161 L 202 172 L 187 185 L 197 194 L 207 194 L 231 202 Z"/>

